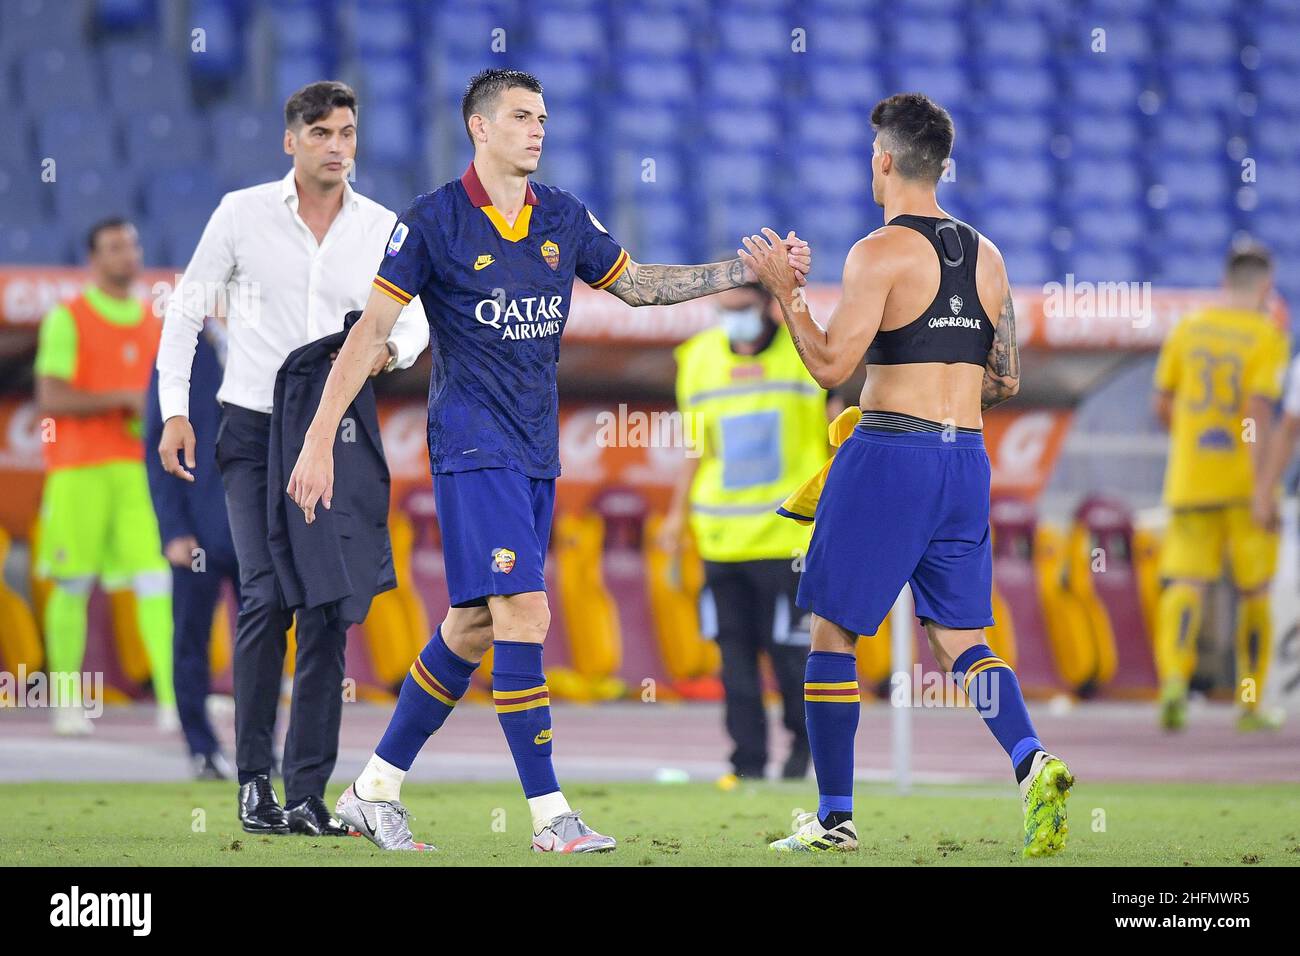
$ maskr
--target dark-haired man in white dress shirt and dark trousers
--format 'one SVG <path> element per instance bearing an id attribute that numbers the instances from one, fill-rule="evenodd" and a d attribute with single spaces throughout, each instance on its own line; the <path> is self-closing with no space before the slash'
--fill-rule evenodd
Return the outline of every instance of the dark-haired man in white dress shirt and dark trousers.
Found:
<path id="1" fill-rule="evenodd" d="M 286 632 L 266 542 L 266 449 L 276 373 L 289 352 L 339 332 L 365 306 L 396 216 L 352 191 L 356 94 L 324 81 L 285 104 L 285 152 L 294 168 L 278 182 L 228 193 L 208 220 L 173 293 L 159 347 L 162 467 L 192 481 L 190 369 L 205 315 L 224 302 L 229 329 L 217 466 L 239 561 L 234 649 L 235 763 L 239 818 L 248 832 L 344 835 L 324 803 L 338 753 L 346 624 L 329 607 L 298 611 L 294 693 L 285 740 L 286 805 L 270 784 L 272 736 Z M 412 302 L 370 375 L 407 368 L 429 343 Z M 183 453 L 183 462 L 179 458 Z"/>

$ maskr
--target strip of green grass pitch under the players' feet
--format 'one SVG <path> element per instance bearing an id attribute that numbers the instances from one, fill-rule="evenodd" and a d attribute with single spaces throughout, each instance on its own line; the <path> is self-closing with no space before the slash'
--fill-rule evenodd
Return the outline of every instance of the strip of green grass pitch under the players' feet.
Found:
<path id="1" fill-rule="evenodd" d="M 337 797 L 337 787 L 326 795 Z M 1284 784 L 1076 786 L 1070 845 L 1020 860 L 1020 809 L 1010 782 L 918 787 L 897 796 L 859 786 L 855 855 L 776 855 L 810 783 L 722 792 L 703 783 L 581 784 L 569 803 L 619 849 L 581 860 L 529 849 L 529 819 L 507 783 L 410 784 L 416 839 L 437 853 L 382 853 L 359 838 L 254 836 L 221 783 L 34 783 L 0 786 L 0 865 L 329 866 L 1147 866 L 1300 865 L 1300 788 Z"/>

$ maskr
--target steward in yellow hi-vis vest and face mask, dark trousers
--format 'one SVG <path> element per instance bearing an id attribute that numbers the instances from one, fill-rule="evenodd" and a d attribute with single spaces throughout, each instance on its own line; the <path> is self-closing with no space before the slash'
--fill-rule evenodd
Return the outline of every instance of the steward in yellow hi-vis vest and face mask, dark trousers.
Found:
<path id="1" fill-rule="evenodd" d="M 716 297 L 719 325 L 677 347 L 677 407 L 692 442 L 663 524 L 679 546 L 689 512 L 705 562 L 701 631 L 723 657 L 736 777 L 762 778 L 767 718 L 758 657 L 772 662 L 792 744 L 783 775 L 807 773 L 803 662 L 809 615 L 794 604 L 811 529 L 776 514 L 826 463 L 827 394 L 812 380 L 762 286 Z"/>

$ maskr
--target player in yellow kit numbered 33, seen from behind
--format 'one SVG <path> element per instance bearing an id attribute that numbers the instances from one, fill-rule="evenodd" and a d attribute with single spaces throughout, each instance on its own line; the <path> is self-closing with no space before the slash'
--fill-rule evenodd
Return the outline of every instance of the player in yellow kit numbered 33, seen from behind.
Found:
<path id="1" fill-rule="evenodd" d="M 1258 246 L 1234 250 L 1222 304 L 1179 323 L 1156 365 L 1156 414 L 1170 429 L 1170 518 L 1160 561 L 1165 589 L 1156 618 L 1160 713 L 1167 730 L 1186 723 L 1205 587 L 1219 579 L 1225 562 L 1238 593 L 1238 728 L 1266 730 L 1280 722 L 1260 709 L 1278 540 L 1251 510 L 1288 358 L 1287 336 L 1268 313 L 1271 293 L 1269 252 Z"/>

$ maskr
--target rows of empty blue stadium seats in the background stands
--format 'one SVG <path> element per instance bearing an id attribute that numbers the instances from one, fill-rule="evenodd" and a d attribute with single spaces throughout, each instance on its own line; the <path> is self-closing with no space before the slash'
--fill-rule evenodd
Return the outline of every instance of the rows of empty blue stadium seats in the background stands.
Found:
<path id="1" fill-rule="evenodd" d="M 202 216 L 150 203 L 150 173 L 196 161 L 224 189 L 274 178 L 285 168 L 278 107 L 324 75 L 354 83 L 365 105 L 358 186 L 403 208 L 463 166 L 458 100 L 465 77 L 502 56 L 488 49 L 498 36 L 508 64 L 534 69 L 563 117 L 543 178 L 602 211 L 647 261 L 708 261 L 733 250 L 736 228 L 751 229 L 754 217 L 802 225 L 816 247 L 848 248 L 879 225 L 858 202 L 870 140 L 861 117 L 901 88 L 924 90 L 954 113 L 958 173 L 942 186 L 944 204 L 983 224 L 1019 282 L 1140 272 L 1209 285 L 1218 261 L 1208 245 L 1221 248 L 1238 230 L 1280 255 L 1300 252 L 1290 225 L 1300 215 L 1300 8 L 1291 0 L 926 0 L 902 10 L 855 0 L 368 0 L 364 16 L 351 0 L 191 0 L 202 53 L 188 35 L 169 34 L 161 10 L 160 0 L 0 4 L 0 91 L 17 104 L 0 143 L 0 193 L 6 177 L 51 155 L 38 140 L 68 148 L 57 189 L 0 203 L 6 261 L 72 261 L 81 235 L 68 216 L 110 204 L 139 219 L 151 260 L 183 264 Z M 800 43 L 809 55 L 792 56 Z M 46 117 L 79 112 L 98 91 L 107 109 L 58 139 L 52 126 L 66 131 L 73 120 Z M 148 148 L 151 130 L 169 126 L 160 116 L 190 131 Z M 792 135 L 811 153 L 784 156 Z M 91 140 L 114 174 L 82 195 L 73 174 L 86 159 L 78 144 Z M 1242 181 L 1238 144 L 1249 146 L 1257 182 Z M 653 187 L 640 178 L 644 157 L 655 159 Z M 801 215 L 810 202 L 811 221 Z M 989 225 L 1000 213 L 1009 228 Z M 698 228 L 666 229 L 666 220 Z M 1098 234 L 1098 221 L 1117 229 Z M 1176 238 L 1186 254 L 1143 248 L 1147 235 Z M 833 281 L 838 261 L 816 258 L 814 278 Z M 1280 271 L 1278 282 L 1300 294 L 1300 272 Z"/>

